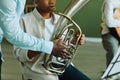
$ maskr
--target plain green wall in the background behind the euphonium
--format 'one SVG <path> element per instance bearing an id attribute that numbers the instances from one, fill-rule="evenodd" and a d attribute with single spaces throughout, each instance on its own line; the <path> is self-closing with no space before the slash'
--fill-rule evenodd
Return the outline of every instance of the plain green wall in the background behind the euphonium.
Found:
<path id="1" fill-rule="evenodd" d="M 27 0 L 32 3 L 33 0 Z M 56 0 L 56 7 L 64 11 L 70 0 Z M 86 37 L 100 37 L 101 5 L 103 0 L 90 0 L 74 16 L 73 20 L 81 27 Z"/>

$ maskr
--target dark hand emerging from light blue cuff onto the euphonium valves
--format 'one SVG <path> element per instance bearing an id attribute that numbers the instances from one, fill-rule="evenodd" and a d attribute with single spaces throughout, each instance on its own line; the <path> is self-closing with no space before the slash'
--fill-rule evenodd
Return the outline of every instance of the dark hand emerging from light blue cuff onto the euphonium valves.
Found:
<path id="1" fill-rule="evenodd" d="M 61 39 L 56 39 L 53 41 L 54 47 L 52 54 L 56 57 L 61 57 L 63 59 L 67 58 L 69 55 L 68 46 Z"/>

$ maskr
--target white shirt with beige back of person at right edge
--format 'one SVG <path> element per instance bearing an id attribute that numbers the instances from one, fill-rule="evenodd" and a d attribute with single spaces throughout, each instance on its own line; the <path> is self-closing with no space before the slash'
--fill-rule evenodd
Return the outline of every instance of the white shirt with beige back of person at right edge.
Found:
<path id="1" fill-rule="evenodd" d="M 102 8 L 102 34 L 109 32 L 107 27 L 120 27 L 120 20 L 114 19 L 114 9 L 120 8 L 120 0 L 105 0 Z"/>

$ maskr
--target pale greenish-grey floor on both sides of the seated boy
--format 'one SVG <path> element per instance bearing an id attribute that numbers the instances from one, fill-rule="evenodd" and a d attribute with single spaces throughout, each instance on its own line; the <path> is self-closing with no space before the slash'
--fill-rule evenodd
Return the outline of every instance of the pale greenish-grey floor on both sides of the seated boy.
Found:
<path id="1" fill-rule="evenodd" d="M 4 63 L 2 66 L 2 80 L 21 80 L 21 68 L 13 54 L 13 46 L 6 40 L 2 43 Z M 73 60 L 74 65 L 91 80 L 101 80 L 105 70 L 105 51 L 101 42 L 89 42 L 79 46 Z"/>

